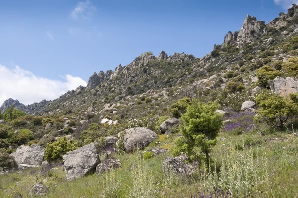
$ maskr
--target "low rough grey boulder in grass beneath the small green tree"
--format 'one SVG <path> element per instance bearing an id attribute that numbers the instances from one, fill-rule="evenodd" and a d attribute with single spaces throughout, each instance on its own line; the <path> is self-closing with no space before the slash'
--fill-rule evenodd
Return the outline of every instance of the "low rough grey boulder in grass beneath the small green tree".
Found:
<path id="1" fill-rule="evenodd" d="M 164 174 L 191 176 L 198 172 L 200 161 L 193 162 L 191 164 L 185 163 L 188 160 L 187 155 L 181 155 L 179 157 L 167 156 L 162 162 L 162 170 Z"/>

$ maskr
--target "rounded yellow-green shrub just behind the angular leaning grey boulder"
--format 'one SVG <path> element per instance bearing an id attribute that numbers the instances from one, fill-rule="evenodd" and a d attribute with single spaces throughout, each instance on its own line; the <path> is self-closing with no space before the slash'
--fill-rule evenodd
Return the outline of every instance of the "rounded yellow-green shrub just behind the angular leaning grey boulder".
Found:
<path id="1" fill-rule="evenodd" d="M 77 147 L 66 137 L 58 139 L 56 142 L 48 143 L 45 147 L 45 159 L 48 162 L 61 160 L 62 156 L 69 151 L 73 151 Z"/>

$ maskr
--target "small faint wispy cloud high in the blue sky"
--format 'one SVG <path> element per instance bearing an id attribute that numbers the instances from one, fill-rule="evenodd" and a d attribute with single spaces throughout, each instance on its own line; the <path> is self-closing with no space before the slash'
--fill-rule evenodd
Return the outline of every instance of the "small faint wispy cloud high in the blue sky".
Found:
<path id="1" fill-rule="evenodd" d="M 76 7 L 71 12 L 71 17 L 74 20 L 86 19 L 89 18 L 96 11 L 96 7 L 92 5 L 92 2 L 89 0 L 79 1 L 76 4 Z"/>

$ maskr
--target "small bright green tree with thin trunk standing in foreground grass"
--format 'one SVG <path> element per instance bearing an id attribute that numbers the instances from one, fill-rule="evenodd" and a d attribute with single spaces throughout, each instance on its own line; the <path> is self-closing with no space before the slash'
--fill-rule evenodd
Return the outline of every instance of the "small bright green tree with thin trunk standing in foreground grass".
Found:
<path id="1" fill-rule="evenodd" d="M 216 137 L 222 128 L 222 115 L 217 113 L 217 103 L 202 103 L 200 100 L 193 100 L 188 105 L 186 113 L 182 115 L 184 122 L 181 127 L 180 137 L 175 140 L 175 147 L 171 149 L 174 156 L 186 153 L 191 160 L 200 158 L 194 150 L 199 147 L 206 156 L 207 167 L 209 167 L 209 153 L 211 147 L 216 145 Z"/>

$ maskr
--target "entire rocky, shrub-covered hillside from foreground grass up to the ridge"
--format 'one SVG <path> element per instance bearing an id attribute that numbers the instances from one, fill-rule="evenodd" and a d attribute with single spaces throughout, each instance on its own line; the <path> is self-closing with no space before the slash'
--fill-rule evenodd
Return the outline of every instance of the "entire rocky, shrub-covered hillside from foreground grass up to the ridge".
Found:
<path id="1" fill-rule="evenodd" d="M 59 99 L 7 99 L 0 197 L 35 183 L 53 198 L 295 197 L 297 75 L 293 4 L 267 24 L 247 15 L 202 58 L 145 52 Z"/>

